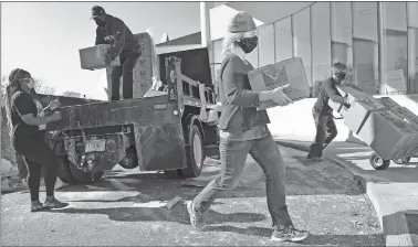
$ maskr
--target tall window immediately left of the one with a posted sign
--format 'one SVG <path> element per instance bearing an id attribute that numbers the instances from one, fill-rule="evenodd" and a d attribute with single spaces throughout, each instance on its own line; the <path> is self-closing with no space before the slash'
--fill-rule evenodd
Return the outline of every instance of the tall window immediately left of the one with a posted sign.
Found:
<path id="1" fill-rule="evenodd" d="M 352 7 L 354 82 L 363 92 L 376 95 L 379 93 L 377 2 L 352 2 Z"/>

